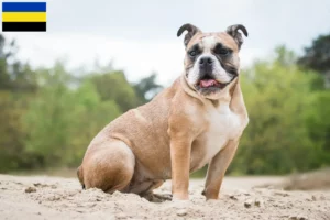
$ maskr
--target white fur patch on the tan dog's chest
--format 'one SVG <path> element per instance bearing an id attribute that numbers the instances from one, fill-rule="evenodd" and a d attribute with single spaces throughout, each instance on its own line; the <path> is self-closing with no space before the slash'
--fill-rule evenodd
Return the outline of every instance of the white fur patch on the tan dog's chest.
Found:
<path id="1" fill-rule="evenodd" d="M 224 147 L 229 140 L 235 139 L 242 128 L 240 117 L 233 113 L 229 105 L 220 105 L 208 112 L 209 130 L 206 131 L 206 153 L 201 164 L 207 164 Z"/>

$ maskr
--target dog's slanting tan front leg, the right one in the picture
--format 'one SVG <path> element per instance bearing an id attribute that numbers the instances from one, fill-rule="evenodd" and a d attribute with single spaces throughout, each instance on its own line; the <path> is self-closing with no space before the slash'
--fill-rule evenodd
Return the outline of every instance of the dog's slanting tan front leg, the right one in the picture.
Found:
<path id="1" fill-rule="evenodd" d="M 208 167 L 205 189 L 202 191 L 207 200 L 219 198 L 223 176 L 237 152 L 238 145 L 239 140 L 229 141 L 224 148 L 211 160 Z"/>

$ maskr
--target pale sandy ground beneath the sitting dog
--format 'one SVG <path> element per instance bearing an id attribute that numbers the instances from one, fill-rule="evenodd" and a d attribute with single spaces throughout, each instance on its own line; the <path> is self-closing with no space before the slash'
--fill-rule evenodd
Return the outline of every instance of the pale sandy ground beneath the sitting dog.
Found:
<path id="1" fill-rule="evenodd" d="M 75 178 L 0 175 L 0 219 L 324 219 L 330 191 L 255 188 L 278 177 L 227 177 L 219 200 L 205 201 L 202 180 L 190 182 L 190 200 L 154 204 L 132 194 L 81 190 Z M 170 193 L 166 183 L 157 193 Z"/>

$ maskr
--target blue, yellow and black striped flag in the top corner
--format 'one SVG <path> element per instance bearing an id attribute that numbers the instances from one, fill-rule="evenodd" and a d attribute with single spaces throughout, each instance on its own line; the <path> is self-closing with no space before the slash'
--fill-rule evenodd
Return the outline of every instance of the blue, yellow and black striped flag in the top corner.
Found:
<path id="1" fill-rule="evenodd" d="M 3 32 L 45 32 L 46 2 L 2 2 Z"/>

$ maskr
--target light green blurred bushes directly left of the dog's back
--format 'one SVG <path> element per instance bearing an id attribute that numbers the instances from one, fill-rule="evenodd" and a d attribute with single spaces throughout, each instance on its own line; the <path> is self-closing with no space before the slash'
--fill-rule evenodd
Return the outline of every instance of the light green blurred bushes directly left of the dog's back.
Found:
<path id="1" fill-rule="evenodd" d="M 92 138 L 120 114 L 119 107 L 102 100 L 90 79 L 70 88 L 62 64 L 38 75 L 44 82 L 24 120 L 26 151 L 38 158 L 38 167 L 77 165 Z"/>

